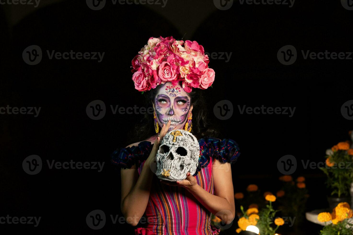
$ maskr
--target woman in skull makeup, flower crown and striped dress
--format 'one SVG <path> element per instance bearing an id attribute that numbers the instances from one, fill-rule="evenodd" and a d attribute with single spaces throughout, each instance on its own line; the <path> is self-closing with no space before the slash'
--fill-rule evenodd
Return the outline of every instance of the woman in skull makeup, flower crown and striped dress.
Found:
<path id="1" fill-rule="evenodd" d="M 147 227 L 137 228 L 135 234 L 218 234 L 211 213 L 226 224 L 234 219 L 230 163 L 240 153 L 233 140 L 208 137 L 217 133 L 209 128 L 202 97 L 202 89 L 214 81 L 208 62 L 196 41 L 173 37 L 151 37 L 132 60 L 135 88 L 145 94 L 154 115 L 146 114 L 146 122 L 136 128 L 143 141 L 117 149 L 112 162 L 122 168 L 121 211 L 127 222 L 136 226 L 144 214 L 147 217 Z M 185 180 L 158 180 L 151 166 L 160 141 L 173 129 L 198 138 L 198 169 L 194 175 L 188 172 Z"/>

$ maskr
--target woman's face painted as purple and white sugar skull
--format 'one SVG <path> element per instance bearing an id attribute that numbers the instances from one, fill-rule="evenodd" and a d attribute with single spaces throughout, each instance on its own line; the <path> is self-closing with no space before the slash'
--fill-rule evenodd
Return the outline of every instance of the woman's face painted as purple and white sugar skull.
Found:
<path id="1" fill-rule="evenodd" d="M 184 129 L 192 105 L 190 106 L 189 94 L 181 86 L 173 86 L 171 82 L 166 82 L 156 94 L 153 108 L 160 127 L 171 120 L 169 130 L 172 130 L 174 127 Z"/>

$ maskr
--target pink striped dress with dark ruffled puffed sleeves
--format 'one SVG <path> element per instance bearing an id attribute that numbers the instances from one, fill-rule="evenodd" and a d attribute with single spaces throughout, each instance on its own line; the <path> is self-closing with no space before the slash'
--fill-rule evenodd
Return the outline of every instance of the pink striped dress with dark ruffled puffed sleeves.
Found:
<path id="1" fill-rule="evenodd" d="M 199 165 L 194 174 L 197 183 L 214 194 L 212 162 L 234 162 L 239 156 L 239 147 L 233 140 L 203 138 L 199 141 Z M 112 154 L 112 163 L 122 168 L 138 164 L 140 174 L 152 149 L 148 141 L 138 146 L 119 148 Z M 145 216 L 147 226 L 137 228 L 136 235 L 216 235 L 219 228 L 211 225 L 211 213 L 183 187 L 168 186 L 153 178 L 150 198 Z"/>

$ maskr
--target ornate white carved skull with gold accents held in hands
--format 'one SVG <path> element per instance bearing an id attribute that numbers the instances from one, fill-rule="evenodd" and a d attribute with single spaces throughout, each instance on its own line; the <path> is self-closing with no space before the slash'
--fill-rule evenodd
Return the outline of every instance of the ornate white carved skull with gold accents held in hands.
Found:
<path id="1" fill-rule="evenodd" d="M 195 174 L 200 146 L 195 136 L 186 130 L 169 131 L 157 151 L 156 175 L 162 180 L 178 181 L 186 173 Z"/>

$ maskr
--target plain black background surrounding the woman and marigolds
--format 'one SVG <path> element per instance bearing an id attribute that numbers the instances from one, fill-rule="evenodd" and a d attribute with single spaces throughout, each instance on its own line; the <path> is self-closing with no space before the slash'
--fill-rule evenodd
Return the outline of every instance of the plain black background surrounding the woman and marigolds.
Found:
<path id="1" fill-rule="evenodd" d="M 3 234 L 133 234 L 127 224 L 112 224 L 122 216 L 120 171 L 109 164 L 110 154 L 126 146 L 128 131 L 142 114 L 115 114 L 110 105 L 143 106 L 131 82 L 131 60 L 151 36 L 196 40 L 206 52 L 232 52 L 228 63 L 210 59 L 216 71 L 213 88 L 205 90 L 210 116 L 222 136 L 238 142 L 241 156 L 232 166 L 235 192 L 250 183 L 261 192 L 278 190 L 277 160 L 291 154 L 305 176 L 310 198 L 306 211 L 327 207 L 325 177 L 304 169 L 301 160 L 324 161 L 325 149 L 349 139 L 352 121 L 341 106 L 352 95 L 352 60 L 304 60 L 301 50 L 353 52 L 353 11 L 340 1 L 296 1 L 288 5 L 241 5 L 226 11 L 212 1 L 169 0 L 157 5 L 113 5 L 99 11 L 85 1 L 46 1 L 40 7 L 0 5 L 1 107 L 41 107 L 38 117 L 1 114 L 0 216 L 41 216 L 38 227 L 0 224 Z M 22 58 L 30 45 L 42 48 L 43 59 L 28 65 Z M 282 65 L 277 51 L 297 49 L 292 65 Z M 105 52 L 97 60 L 49 60 L 46 50 Z M 100 120 L 86 106 L 102 100 L 107 113 Z M 232 118 L 221 121 L 214 105 L 229 100 Z M 240 114 L 238 106 L 296 107 L 294 116 Z M 28 175 L 22 161 L 39 155 L 44 166 Z M 46 160 L 105 161 L 97 170 L 48 169 Z M 85 222 L 103 210 L 107 223 L 100 230 Z M 305 220 L 304 220 L 305 221 Z M 319 225 L 304 222 L 303 234 L 317 234 Z M 234 234 L 236 223 L 224 234 Z M 289 234 L 291 228 L 281 228 Z"/>

